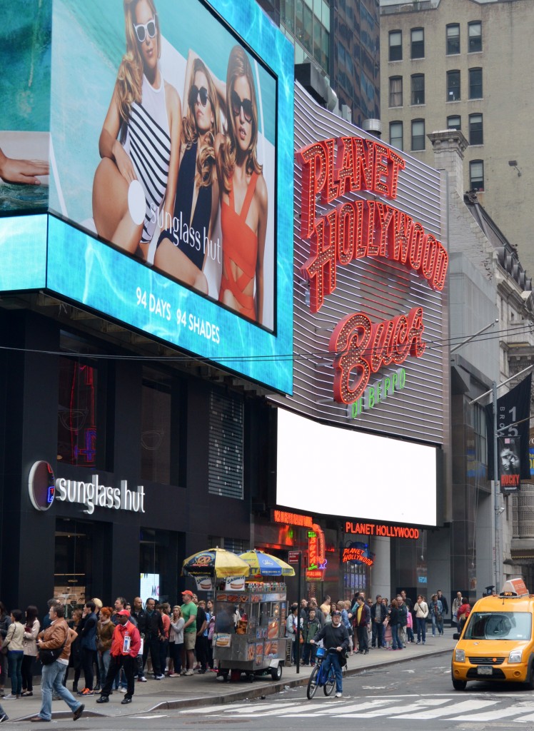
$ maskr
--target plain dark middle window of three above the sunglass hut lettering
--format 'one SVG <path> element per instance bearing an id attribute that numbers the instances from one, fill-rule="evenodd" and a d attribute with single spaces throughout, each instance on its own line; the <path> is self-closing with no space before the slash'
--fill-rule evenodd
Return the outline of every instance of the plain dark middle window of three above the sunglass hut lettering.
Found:
<path id="1" fill-rule="evenodd" d="M 141 478 L 170 483 L 170 378 L 143 371 L 141 388 Z M 178 450 L 173 450 L 177 455 Z"/>

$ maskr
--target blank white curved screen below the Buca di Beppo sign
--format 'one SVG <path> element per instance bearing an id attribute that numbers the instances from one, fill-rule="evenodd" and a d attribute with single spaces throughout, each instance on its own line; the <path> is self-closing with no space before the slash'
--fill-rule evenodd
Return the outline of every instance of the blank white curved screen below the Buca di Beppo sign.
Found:
<path id="1" fill-rule="evenodd" d="M 307 513 L 436 525 L 436 448 L 278 409 L 277 504 Z"/>

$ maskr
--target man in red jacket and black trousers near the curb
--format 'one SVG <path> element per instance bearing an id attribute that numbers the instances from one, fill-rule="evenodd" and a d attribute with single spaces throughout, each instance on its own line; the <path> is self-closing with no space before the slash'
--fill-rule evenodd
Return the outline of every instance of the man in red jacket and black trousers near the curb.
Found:
<path id="1" fill-rule="evenodd" d="M 97 703 L 109 702 L 113 681 L 117 673 L 119 673 L 119 670 L 121 670 L 121 667 L 124 667 L 124 675 L 126 675 L 126 681 L 128 683 L 126 695 L 122 699 L 123 705 L 132 702 L 132 695 L 135 690 L 134 676 L 137 667 L 137 656 L 141 646 L 141 637 L 138 628 L 129 621 L 129 611 L 127 609 L 121 609 L 117 613 L 117 619 L 119 624 L 113 632 L 110 650 L 110 667 L 102 688 L 102 694 L 97 700 Z"/>

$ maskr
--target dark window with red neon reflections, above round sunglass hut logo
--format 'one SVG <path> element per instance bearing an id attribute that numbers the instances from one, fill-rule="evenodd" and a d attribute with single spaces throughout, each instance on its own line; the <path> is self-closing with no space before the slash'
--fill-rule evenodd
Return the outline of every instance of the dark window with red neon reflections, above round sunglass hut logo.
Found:
<path id="1" fill-rule="evenodd" d="M 97 368 L 59 358 L 58 458 L 78 467 L 97 466 Z"/>

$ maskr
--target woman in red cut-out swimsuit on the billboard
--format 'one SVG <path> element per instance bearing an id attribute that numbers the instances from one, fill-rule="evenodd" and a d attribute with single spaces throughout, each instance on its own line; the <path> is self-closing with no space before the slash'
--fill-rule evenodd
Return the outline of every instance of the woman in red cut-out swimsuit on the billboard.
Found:
<path id="1" fill-rule="evenodd" d="M 263 320 L 263 254 L 267 186 L 257 162 L 257 106 L 252 67 L 234 46 L 226 75 L 226 135 L 215 153 L 221 196 L 222 276 L 219 302 L 250 319 Z"/>

